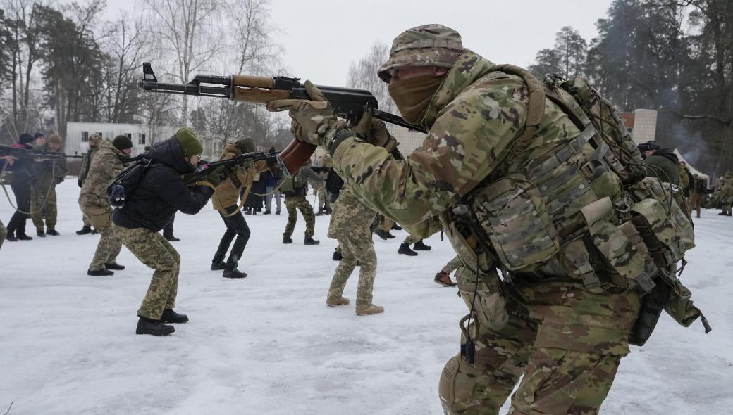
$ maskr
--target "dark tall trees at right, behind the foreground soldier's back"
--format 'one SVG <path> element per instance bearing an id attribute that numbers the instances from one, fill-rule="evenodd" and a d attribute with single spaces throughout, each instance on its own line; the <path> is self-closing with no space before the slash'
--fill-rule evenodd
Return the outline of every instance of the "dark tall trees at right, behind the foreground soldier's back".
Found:
<path id="1" fill-rule="evenodd" d="M 733 168 L 733 1 L 614 0 L 598 35 L 570 26 L 534 75 L 586 76 L 621 111 L 658 110 L 657 140 L 704 173 Z"/>

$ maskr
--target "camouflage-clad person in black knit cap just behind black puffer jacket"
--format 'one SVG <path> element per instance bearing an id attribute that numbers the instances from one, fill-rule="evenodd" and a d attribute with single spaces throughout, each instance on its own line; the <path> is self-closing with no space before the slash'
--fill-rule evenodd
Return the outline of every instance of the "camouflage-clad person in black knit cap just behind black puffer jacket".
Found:
<path id="1" fill-rule="evenodd" d="M 114 274 L 113 269 L 125 269 L 125 266 L 117 263 L 122 243 L 119 242 L 111 226 L 112 209 L 109 206 L 107 186 L 124 170 L 125 166 L 119 157 L 128 156 L 132 152 L 133 143 L 125 135 L 118 135 L 114 138 L 114 142 L 104 139 L 98 146 L 97 154 L 89 165 L 84 185 L 81 186 L 79 207 L 101 234 L 86 274 L 105 276 Z"/>

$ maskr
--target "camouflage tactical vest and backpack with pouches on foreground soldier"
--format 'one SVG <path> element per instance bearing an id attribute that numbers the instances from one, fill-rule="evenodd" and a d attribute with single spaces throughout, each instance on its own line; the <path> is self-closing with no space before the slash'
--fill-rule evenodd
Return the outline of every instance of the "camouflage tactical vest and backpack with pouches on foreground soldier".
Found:
<path id="1" fill-rule="evenodd" d="M 633 344 L 644 344 L 662 308 L 689 326 L 701 313 L 675 274 L 694 247 L 684 198 L 674 201 L 682 195 L 679 187 L 647 177 L 619 112 L 586 78 L 548 75 L 539 81 L 512 65 L 495 70 L 525 81 L 526 127 L 485 186 L 465 202 L 502 272 L 570 276 L 589 290 L 638 291 L 644 305 Z M 539 129 L 545 100 L 581 134 L 549 154 L 520 157 Z M 703 324 L 709 329 L 704 317 Z"/>

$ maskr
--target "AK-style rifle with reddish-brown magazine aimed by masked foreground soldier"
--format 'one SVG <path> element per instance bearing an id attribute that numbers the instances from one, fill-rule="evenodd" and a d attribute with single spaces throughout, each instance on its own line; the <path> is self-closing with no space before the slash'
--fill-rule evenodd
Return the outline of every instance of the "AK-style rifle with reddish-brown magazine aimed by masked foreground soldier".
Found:
<path id="1" fill-rule="evenodd" d="M 189 83 L 160 83 L 152 72 L 149 62 L 143 64 L 143 79 L 139 86 L 145 91 L 163 92 L 166 94 L 194 95 L 198 97 L 227 98 L 232 101 L 256 102 L 266 104 L 274 100 L 309 100 L 305 86 L 300 83 L 301 78 L 265 78 L 250 75 L 196 75 Z M 375 96 L 363 89 L 341 88 L 338 86 L 318 86 L 323 96 L 334 109 L 336 116 L 350 121 L 352 124 L 361 119 L 367 109 L 371 109 L 372 116 L 390 124 L 407 127 L 412 130 L 425 132 L 423 127 L 409 124 L 402 117 L 380 111 L 379 102 Z M 308 160 L 315 146 L 293 139 L 280 154 L 287 167 L 287 173 L 295 173 L 303 162 Z"/>

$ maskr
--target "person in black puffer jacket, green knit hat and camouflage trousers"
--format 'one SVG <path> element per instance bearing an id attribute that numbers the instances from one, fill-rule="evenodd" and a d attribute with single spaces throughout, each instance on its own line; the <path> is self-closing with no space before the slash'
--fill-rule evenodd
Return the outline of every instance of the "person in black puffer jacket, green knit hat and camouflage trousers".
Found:
<path id="1" fill-rule="evenodd" d="M 164 323 L 185 323 L 188 316 L 173 310 L 178 288 L 180 255 L 158 233 L 177 211 L 198 213 L 218 185 L 218 171 L 206 177 L 205 186 L 187 186 L 181 175 L 196 170 L 202 146 L 193 131 L 182 128 L 150 150 L 152 164 L 125 206 L 114 210 L 114 231 L 122 244 L 154 269 L 147 294 L 138 310 L 137 334 L 164 336 L 175 331 Z M 198 182 L 197 182 L 198 183 Z"/>

